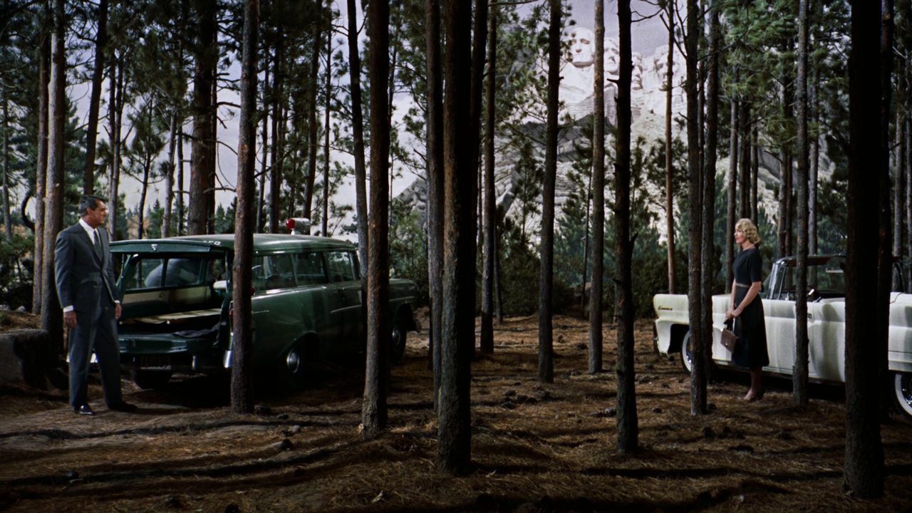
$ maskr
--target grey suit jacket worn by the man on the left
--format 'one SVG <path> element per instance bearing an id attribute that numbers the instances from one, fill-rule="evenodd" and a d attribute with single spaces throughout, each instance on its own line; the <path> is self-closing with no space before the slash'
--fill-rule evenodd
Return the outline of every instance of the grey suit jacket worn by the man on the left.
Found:
<path id="1" fill-rule="evenodd" d="M 55 266 L 61 307 L 72 305 L 78 312 L 94 312 L 102 294 L 119 300 L 108 230 L 99 228 L 98 236 L 100 255 L 82 225 L 72 225 L 57 234 Z"/>

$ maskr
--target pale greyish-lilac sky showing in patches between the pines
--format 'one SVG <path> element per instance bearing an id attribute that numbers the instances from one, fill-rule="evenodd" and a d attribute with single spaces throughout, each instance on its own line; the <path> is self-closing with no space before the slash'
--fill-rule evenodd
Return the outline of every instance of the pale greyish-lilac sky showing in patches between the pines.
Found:
<path id="1" fill-rule="evenodd" d="M 358 16 L 361 17 L 363 14 L 360 11 L 360 2 L 358 4 Z M 575 21 L 576 26 L 585 26 L 586 28 L 594 29 L 595 28 L 595 4 L 592 0 L 570 0 L 569 4 L 571 5 L 571 16 L 570 19 Z M 606 36 L 609 38 L 617 39 L 617 3 L 613 0 L 607 0 L 605 3 L 605 17 L 606 17 Z M 337 21 L 337 26 L 347 26 L 347 6 L 345 2 L 340 2 L 336 0 L 334 8 L 340 13 L 341 17 Z M 531 8 L 531 7 L 525 7 Z M 643 55 L 652 55 L 657 47 L 666 46 L 668 44 L 668 32 L 663 25 L 663 23 L 658 19 L 658 16 L 654 15 L 657 7 L 651 5 L 643 0 L 633 0 L 631 8 L 633 10 L 633 19 L 635 21 L 642 20 L 636 23 L 631 31 L 631 46 L 633 51 L 639 52 Z M 522 10 L 522 7 L 521 7 Z M 648 19 L 647 19 L 648 18 Z M 367 37 L 364 35 L 364 30 L 362 30 L 361 39 L 362 41 L 366 40 Z M 341 38 L 342 36 L 334 37 L 334 40 Z M 347 50 L 346 50 L 347 51 Z M 232 78 L 236 79 L 236 76 L 240 75 L 240 67 L 235 63 L 232 68 L 229 68 L 229 73 L 232 74 Z M 262 77 L 261 77 L 262 79 Z M 107 82 L 106 82 L 107 86 Z M 79 85 L 74 87 L 70 94 L 77 101 L 78 104 L 78 116 L 82 120 L 88 119 L 88 84 Z M 103 98 L 107 98 L 107 92 L 102 93 Z M 219 100 L 222 102 L 238 104 L 239 99 L 236 98 L 236 94 L 231 91 L 222 91 L 219 95 Z M 394 102 L 399 108 L 394 113 L 394 121 L 398 116 L 401 119 L 402 114 L 407 110 L 407 99 L 399 99 Z M 217 170 L 219 177 L 219 186 L 225 188 L 233 188 L 236 183 L 236 174 L 237 174 L 237 155 L 234 152 L 237 148 L 237 124 L 238 124 L 238 112 L 236 109 L 223 108 L 220 111 L 220 118 L 223 121 L 223 124 L 219 128 L 218 137 L 221 142 L 219 147 L 219 155 L 217 158 Z M 129 127 L 124 127 L 124 131 L 127 131 Z M 184 126 L 184 131 L 189 133 L 192 131 L 192 123 L 188 120 L 187 124 Z M 104 136 L 104 131 L 99 134 L 99 137 Z M 401 134 L 400 134 L 401 137 Z M 259 148 L 258 148 L 259 150 Z M 167 153 L 163 152 L 160 160 L 167 158 Z M 189 145 L 184 149 L 184 158 L 190 159 L 190 147 Z M 333 161 L 346 162 L 349 165 L 353 165 L 351 162 L 351 157 L 349 155 L 336 153 L 331 154 L 330 159 Z M 257 164 L 257 170 L 260 166 Z M 189 162 L 185 163 L 184 167 L 185 181 L 189 183 L 190 175 L 190 165 Z M 415 180 L 415 176 L 407 171 L 403 172 L 403 176 L 400 179 L 394 180 L 393 182 L 393 194 L 401 193 L 406 187 L 409 186 Z M 123 177 L 120 185 L 120 190 L 122 193 L 127 194 L 127 204 L 130 207 L 135 207 L 139 203 L 140 196 L 140 183 L 136 180 L 132 180 L 129 177 Z M 219 204 L 231 204 L 234 198 L 234 193 L 232 191 L 217 191 L 216 192 L 216 201 Z M 164 182 L 151 183 L 148 197 L 146 199 L 147 208 L 149 205 L 154 204 L 155 199 L 164 200 Z M 355 194 L 354 194 L 354 185 L 348 180 L 346 183 L 343 183 L 339 189 L 337 195 L 333 198 L 337 204 L 355 204 Z M 318 227 L 318 226 L 317 226 Z"/>

